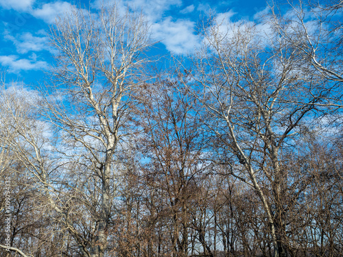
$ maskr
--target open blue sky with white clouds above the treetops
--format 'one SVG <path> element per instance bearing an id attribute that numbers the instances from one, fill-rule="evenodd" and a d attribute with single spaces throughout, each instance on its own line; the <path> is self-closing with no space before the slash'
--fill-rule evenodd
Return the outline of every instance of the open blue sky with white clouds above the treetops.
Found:
<path id="1" fill-rule="evenodd" d="M 96 12 L 100 1 L 77 1 L 80 8 Z M 0 0 L 0 71 L 6 82 L 16 80 L 36 84 L 49 73 L 54 49 L 49 46 L 47 32 L 56 16 L 63 15 L 75 1 Z M 257 1 L 189 1 L 189 0 L 126 0 L 142 10 L 152 23 L 152 36 L 161 40 L 157 52 L 185 55 L 200 45 L 196 27 L 200 17 L 213 10 L 227 14 L 233 21 L 252 21 L 267 4 Z"/>

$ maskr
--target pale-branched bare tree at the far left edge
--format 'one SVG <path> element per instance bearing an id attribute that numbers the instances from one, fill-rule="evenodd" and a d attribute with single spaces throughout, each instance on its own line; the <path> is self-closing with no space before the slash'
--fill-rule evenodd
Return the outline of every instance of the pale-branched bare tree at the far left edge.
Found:
<path id="1" fill-rule="evenodd" d="M 10 214 L 10 250 L 21 256 L 51 254 L 51 248 L 54 248 L 50 240 L 54 223 L 48 218 L 50 213 L 43 208 L 48 201 L 41 193 L 45 184 L 39 182 L 39 174 L 43 175 L 51 164 L 45 156 L 49 143 L 43 134 L 47 127 L 36 119 L 37 95 L 32 91 L 32 97 L 28 97 L 27 93 L 16 84 L 3 85 L 0 99 L 3 135 L 0 175 L 3 181 L 10 179 L 10 213 L 7 213 Z M 5 214 L 7 210 L 3 207 L 1 212 Z M 54 243 L 56 250 L 60 242 L 55 240 Z M 1 247 L 6 249 L 4 245 Z"/>

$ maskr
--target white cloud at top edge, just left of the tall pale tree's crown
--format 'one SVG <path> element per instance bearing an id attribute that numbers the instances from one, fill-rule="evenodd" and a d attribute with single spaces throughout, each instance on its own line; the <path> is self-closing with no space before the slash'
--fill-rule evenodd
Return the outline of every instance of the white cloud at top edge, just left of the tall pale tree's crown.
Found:
<path id="1" fill-rule="evenodd" d="M 32 15 L 38 19 L 43 19 L 46 23 L 54 23 L 57 16 L 64 16 L 72 8 L 73 5 L 64 1 L 45 3 L 42 8 L 32 10 Z"/>

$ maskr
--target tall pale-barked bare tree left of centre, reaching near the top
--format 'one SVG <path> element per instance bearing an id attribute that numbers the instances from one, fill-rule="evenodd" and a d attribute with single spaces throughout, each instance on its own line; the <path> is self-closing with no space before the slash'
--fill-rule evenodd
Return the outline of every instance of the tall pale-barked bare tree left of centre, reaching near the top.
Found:
<path id="1" fill-rule="evenodd" d="M 63 134 L 61 143 L 72 147 L 60 149 L 76 167 L 66 186 L 79 192 L 80 204 L 89 211 L 86 220 L 78 222 L 75 216 L 68 226 L 84 256 L 104 256 L 116 196 L 113 162 L 119 143 L 130 134 L 131 97 L 151 45 L 149 25 L 141 14 L 116 5 L 102 7 L 99 14 L 74 9 L 51 27 L 50 38 L 59 54 L 56 101 L 48 103 L 47 115 Z M 77 152 L 71 156 L 70 151 Z M 93 230 L 91 239 L 77 231 L 82 222 Z"/>

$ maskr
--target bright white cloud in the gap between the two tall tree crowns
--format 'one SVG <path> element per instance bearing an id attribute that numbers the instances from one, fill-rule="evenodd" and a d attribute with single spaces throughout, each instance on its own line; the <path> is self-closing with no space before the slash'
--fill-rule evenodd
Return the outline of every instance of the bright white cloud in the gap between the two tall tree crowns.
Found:
<path id="1" fill-rule="evenodd" d="M 187 20 L 171 21 L 168 17 L 152 26 L 153 35 L 162 40 L 165 47 L 176 54 L 193 51 L 199 45 L 198 37 L 193 34 L 195 23 Z"/>

